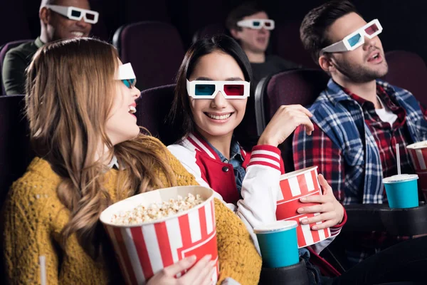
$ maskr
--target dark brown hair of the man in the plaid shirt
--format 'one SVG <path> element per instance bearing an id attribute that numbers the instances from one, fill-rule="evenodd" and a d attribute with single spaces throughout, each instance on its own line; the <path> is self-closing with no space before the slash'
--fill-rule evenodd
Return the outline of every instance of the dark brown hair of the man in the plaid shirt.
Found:
<path id="1" fill-rule="evenodd" d="M 334 21 L 349 13 L 357 13 L 356 7 L 347 0 L 333 0 L 312 9 L 305 15 L 300 26 L 300 38 L 313 61 L 319 64 L 322 48 L 332 44 L 326 36 Z"/>

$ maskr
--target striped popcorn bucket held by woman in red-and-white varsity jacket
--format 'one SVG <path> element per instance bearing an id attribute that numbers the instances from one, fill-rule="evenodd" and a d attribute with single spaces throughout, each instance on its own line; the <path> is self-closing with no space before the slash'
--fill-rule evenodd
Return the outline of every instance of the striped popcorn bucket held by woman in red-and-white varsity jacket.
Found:
<path id="1" fill-rule="evenodd" d="M 286 173 L 280 177 L 280 189 L 276 218 L 278 220 L 292 220 L 298 223 L 298 247 L 307 247 L 331 236 L 330 229 L 312 230 L 315 224 L 301 224 L 302 219 L 315 217 L 320 213 L 299 214 L 300 207 L 312 206 L 317 203 L 302 203 L 301 197 L 322 195 L 319 180 L 317 180 L 317 166 Z M 320 224 L 320 222 L 317 222 Z"/>

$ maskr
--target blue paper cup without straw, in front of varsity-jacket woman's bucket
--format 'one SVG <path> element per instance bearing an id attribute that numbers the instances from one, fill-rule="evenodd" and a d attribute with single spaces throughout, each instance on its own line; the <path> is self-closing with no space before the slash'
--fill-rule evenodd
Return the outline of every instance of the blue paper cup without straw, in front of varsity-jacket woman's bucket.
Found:
<path id="1" fill-rule="evenodd" d="M 297 222 L 277 221 L 255 227 L 263 267 L 278 268 L 299 262 Z"/>

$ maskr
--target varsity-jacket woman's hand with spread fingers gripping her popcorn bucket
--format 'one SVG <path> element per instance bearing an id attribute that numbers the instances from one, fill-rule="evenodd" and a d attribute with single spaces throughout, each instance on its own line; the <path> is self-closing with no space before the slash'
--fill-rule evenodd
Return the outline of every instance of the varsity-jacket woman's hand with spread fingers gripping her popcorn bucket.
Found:
<path id="1" fill-rule="evenodd" d="M 323 195 L 312 195 L 307 197 L 302 197 L 300 199 L 303 203 L 320 203 L 314 206 L 301 207 L 297 209 L 297 212 L 302 213 L 320 213 L 315 217 L 309 219 L 303 219 L 301 224 L 313 224 L 316 222 L 322 222 L 322 224 L 316 224 L 312 227 L 313 230 L 325 229 L 327 227 L 333 227 L 336 224 L 342 222 L 344 217 L 344 207 L 342 204 L 335 199 L 332 188 L 323 175 L 319 175 L 319 183 L 323 190 Z"/>

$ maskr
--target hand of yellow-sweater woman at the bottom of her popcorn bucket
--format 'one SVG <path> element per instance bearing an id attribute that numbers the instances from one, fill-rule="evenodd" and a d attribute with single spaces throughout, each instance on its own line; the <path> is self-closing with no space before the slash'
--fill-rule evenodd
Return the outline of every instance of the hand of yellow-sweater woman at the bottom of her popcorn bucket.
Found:
<path id="1" fill-rule="evenodd" d="M 211 261 L 211 255 L 206 255 L 204 258 L 196 262 L 196 256 L 187 257 L 172 264 L 171 266 L 165 267 L 159 273 L 152 276 L 149 279 L 147 285 L 208 285 L 212 283 L 212 276 L 216 268 L 214 267 L 216 262 Z M 194 265 L 194 266 L 193 266 Z M 193 266 L 193 267 L 191 267 Z M 190 269 L 191 268 L 191 269 Z M 176 274 L 189 269 L 184 275 L 179 278 L 175 278 Z"/>

